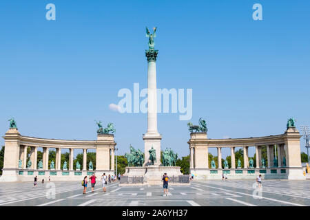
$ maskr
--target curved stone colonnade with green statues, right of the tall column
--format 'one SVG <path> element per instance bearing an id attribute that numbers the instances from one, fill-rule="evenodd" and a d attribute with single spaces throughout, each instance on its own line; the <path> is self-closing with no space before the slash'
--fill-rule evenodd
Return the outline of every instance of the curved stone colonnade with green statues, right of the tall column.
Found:
<path id="1" fill-rule="evenodd" d="M 216 175 L 230 175 L 241 178 L 240 175 L 265 175 L 279 179 L 304 179 L 300 159 L 300 133 L 295 127 L 287 128 L 281 135 L 264 137 L 210 139 L 206 132 L 190 134 L 190 172 L 198 179 L 213 179 Z M 249 160 L 248 149 L 255 147 L 256 161 Z M 240 159 L 236 161 L 235 149 L 242 148 L 243 166 Z M 217 148 L 217 167 L 214 160 L 209 162 L 209 148 Z M 222 166 L 222 148 L 230 148 L 230 166 L 227 160 Z M 267 150 L 267 158 L 262 158 L 262 148 Z M 254 163 L 256 164 L 254 167 Z M 211 166 L 210 166 L 211 164 Z M 270 174 L 270 175 L 268 175 Z M 276 175 L 278 174 L 278 176 Z M 239 175 L 239 176 L 238 176 Z"/>

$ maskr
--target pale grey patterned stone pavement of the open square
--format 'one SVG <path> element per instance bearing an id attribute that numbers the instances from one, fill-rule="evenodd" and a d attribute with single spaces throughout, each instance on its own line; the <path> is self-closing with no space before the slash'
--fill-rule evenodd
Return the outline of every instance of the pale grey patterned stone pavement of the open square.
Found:
<path id="1" fill-rule="evenodd" d="M 83 195 L 81 182 L 54 182 L 54 199 L 46 197 L 48 183 L 0 183 L 0 206 L 310 206 L 310 181 L 266 180 L 258 197 L 254 180 L 191 181 L 190 186 L 169 186 L 163 197 L 161 186 L 118 186 L 112 183 L 103 193 Z M 254 193 L 255 192 L 255 193 Z"/>

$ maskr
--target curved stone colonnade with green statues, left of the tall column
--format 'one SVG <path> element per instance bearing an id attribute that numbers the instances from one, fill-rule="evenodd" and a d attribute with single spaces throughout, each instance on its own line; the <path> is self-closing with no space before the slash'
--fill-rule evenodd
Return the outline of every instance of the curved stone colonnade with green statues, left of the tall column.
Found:
<path id="1" fill-rule="evenodd" d="M 97 140 L 56 140 L 38 137 L 23 136 L 18 129 L 10 128 L 5 140 L 5 157 L 3 162 L 3 177 L 1 181 L 25 180 L 23 177 L 33 177 L 35 175 L 54 176 L 53 179 L 60 179 L 61 176 L 76 176 L 81 179 L 81 175 L 96 173 L 114 173 L 114 151 L 116 142 L 113 134 L 98 134 Z M 30 158 L 28 148 L 30 147 Z M 38 148 L 43 149 L 43 158 L 38 161 Z M 56 149 L 55 162 L 49 163 L 50 148 Z M 70 151 L 69 162 L 61 167 L 61 150 Z M 83 150 L 83 163 L 76 164 L 74 169 L 74 150 Z M 92 163 L 87 167 L 87 150 L 96 151 L 96 168 Z M 82 166 L 82 167 L 81 167 Z M 47 178 L 46 178 L 47 179 Z M 72 179 L 70 177 L 70 179 Z M 74 178 L 73 178 L 74 179 Z"/>

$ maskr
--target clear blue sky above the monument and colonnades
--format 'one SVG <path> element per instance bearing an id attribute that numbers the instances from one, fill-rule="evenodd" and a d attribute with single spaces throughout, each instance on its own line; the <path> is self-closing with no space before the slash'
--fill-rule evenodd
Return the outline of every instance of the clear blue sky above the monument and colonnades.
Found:
<path id="1" fill-rule="evenodd" d="M 56 21 L 45 19 L 48 3 Z M 252 19 L 254 3 L 263 21 Z M 158 27 L 158 88 L 193 89 L 191 121 L 205 118 L 208 137 L 276 135 L 291 117 L 299 129 L 310 124 L 309 8 L 304 0 L 3 0 L 0 132 L 14 116 L 22 135 L 94 140 L 96 119 L 114 122 L 119 153 L 142 149 L 147 115 L 108 105 L 119 89 L 147 87 L 146 25 Z M 158 131 L 163 148 L 189 153 L 178 114 L 158 114 Z"/>

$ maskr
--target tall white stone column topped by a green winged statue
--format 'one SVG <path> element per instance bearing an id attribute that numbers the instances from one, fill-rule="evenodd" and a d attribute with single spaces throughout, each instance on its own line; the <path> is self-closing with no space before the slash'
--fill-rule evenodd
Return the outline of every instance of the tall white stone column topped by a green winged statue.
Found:
<path id="1" fill-rule="evenodd" d="M 154 49 L 156 28 L 151 34 L 146 28 L 146 36 L 149 38 L 149 50 L 145 50 L 147 57 L 147 133 L 143 135 L 145 149 L 144 166 L 150 164 L 149 150 L 153 147 L 156 151 L 155 166 L 161 165 L 161 135 L 157 131 L 157 92 L 156 92 L 156 58 L 158 50 Z"/>

